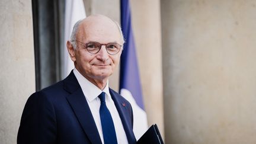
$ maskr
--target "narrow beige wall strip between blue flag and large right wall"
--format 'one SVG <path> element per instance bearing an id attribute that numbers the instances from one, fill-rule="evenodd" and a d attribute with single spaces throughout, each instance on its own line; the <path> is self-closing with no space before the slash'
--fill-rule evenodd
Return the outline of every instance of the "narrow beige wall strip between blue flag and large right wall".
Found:
<path id="1" fill-rule="evenodd" d="M 157 124 L 164 138 L 160 1 L 130 1 L 143 99 L 148 125 Z"/>

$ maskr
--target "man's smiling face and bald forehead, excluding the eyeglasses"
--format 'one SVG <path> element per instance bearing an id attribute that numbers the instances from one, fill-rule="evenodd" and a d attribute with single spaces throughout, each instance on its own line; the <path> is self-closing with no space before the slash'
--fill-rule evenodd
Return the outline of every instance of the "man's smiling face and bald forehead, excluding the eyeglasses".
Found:
<path id="1" fill-rule="evenodd" d="M 107 18 L 91 18 L 82 22 L 78 27 L 76 40 L 82 43 L 97 41 L 98 43 L 119 43 L 121 36 L 117 25 Z M 103 80 L 110 76 L 116 65 L 119 64 L 121 50 L 116 55 L 107 53 L 103 45 L 96 54 L 89 53 L 83 44 L 76 42 L 76 49 L 71 56 L 75 62 L 75 68 L 89 81 Z"/>

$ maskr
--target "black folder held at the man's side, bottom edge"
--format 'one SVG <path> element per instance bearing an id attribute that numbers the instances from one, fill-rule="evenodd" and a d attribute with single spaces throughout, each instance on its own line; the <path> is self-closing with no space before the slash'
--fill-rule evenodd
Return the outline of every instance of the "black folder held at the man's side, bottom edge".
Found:
<path id="1" fill-rule="evenodd" d="M 137 140 L 137 144 L 164 144 L 156 124 L 149 127 L 142 137 Z"/>

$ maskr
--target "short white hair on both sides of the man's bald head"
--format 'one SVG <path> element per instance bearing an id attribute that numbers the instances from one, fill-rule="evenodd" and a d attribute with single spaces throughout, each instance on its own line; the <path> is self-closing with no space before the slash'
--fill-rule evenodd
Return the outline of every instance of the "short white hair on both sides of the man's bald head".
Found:
<path id="1" fill-rule="evenodd" d="M 75 25 L 73 26 L 72 33 L 71 33 L 71 44 L 72 44 L 74 49 L 76 49 L 76 34 L 78 32 L 78 27 L 79 27 L 80 23 L 82 22 L 82 20 L 84 20 L 84 19 L 81 19 L 81 20 L 79 20 L 75 23 Z M 112 19 L 110 19 L 110 20 L 112 20 Z M 119 23 L 117 23 L 117 21 L 114 21 L 114 20 L 112 20 L 112 21 L 117 25 L 117 28 L 118 28 L 119 33 L 121 35 L 121 45 L 123 47 L 123 44 L 125 43 L 125 40 L 124 40 L 123 32 L 121 31 L 121 27 L 120 27 Z"/>

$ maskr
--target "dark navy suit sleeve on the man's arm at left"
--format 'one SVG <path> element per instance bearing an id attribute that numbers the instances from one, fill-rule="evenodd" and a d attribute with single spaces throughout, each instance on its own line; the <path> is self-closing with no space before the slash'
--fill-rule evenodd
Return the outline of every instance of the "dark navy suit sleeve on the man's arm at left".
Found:
<path id="1" fill-rule="evenodd" d="M 56 133 L 53 104 L 43 92 L 34 93 L 25 104 L 17 143 L 56 143 Z"/>

